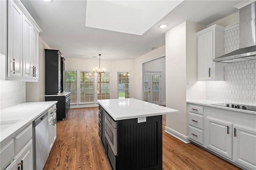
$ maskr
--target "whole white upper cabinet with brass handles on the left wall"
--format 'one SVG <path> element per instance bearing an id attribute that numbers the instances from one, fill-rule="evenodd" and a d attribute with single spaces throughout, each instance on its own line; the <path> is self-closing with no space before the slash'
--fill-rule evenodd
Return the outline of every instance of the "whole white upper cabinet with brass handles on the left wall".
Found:
<path id="1" fill-rule="evenodd" d="M 18 0 L 8 0 L 7 80 L 38 81 L 38 34 L 42 30 Z"/>

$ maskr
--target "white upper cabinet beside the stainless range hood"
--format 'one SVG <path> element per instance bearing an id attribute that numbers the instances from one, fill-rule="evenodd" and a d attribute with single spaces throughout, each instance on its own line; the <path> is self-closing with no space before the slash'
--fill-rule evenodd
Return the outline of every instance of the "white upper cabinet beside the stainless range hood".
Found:
<path id="1" fill-rule="evenodd" d="M 198 81 L 224 81 L 224 63 L 213 62 L 224 54 L 224 27 L 213 25 L 197 32 Z"/>

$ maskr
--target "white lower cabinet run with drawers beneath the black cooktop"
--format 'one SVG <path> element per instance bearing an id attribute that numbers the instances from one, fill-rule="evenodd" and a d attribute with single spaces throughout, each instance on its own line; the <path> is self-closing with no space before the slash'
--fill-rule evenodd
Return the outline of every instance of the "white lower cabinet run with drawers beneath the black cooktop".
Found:
<path id="1" fill-rule="evenodd" d="M 189 139 L 221 158 L 256 170 L 256 114 L 188 104 Z"/>

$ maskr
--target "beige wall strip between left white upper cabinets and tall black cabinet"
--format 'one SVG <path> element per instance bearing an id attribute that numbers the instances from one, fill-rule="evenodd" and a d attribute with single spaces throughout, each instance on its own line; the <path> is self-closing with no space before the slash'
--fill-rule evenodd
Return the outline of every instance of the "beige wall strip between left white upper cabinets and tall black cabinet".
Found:
<path id="1" fill-rule="evenodd" d="M 44 49 L 50 49 L 50 47 L 39 37 L 38 40 L 38 82 L 26 82 L 26 102 L 45 101 L 44 98 Z"/>

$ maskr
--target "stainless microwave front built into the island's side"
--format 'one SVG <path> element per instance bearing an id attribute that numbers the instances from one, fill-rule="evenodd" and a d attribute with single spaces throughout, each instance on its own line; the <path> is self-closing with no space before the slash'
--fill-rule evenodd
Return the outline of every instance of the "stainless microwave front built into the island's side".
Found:
<path id="1" fill-rule="evenodd" d="M 105 135 L 114 155 L 117 155 L 117 122 L 105 113 Z"/>

